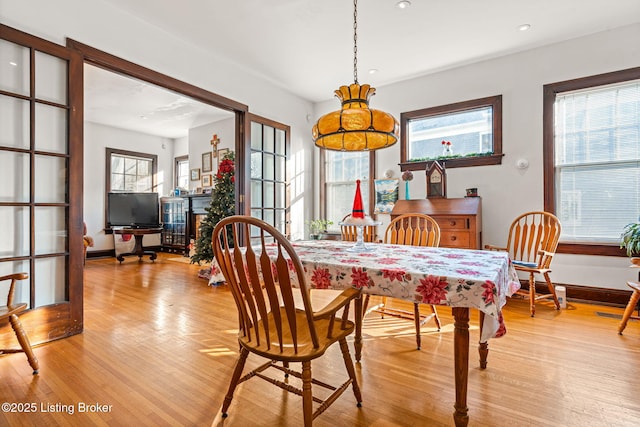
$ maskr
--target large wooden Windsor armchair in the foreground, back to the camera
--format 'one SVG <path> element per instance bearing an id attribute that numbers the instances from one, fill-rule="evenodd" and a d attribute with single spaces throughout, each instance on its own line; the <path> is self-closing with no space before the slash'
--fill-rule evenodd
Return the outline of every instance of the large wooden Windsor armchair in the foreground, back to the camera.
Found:
<path id="1" fill-rule="evenodd" d="M 232 248 L 230 236 L 234 242 L 241 242 L 241 237 L 246 241 L 251 236 L 256 246 Z M 362 396 L 346 340 L 355 329 L 354 322 L 348 320 L 349 308 L 360 291 L 346 289 L 324 308 L 314 311 L 310 287 L 293 246 L 279 231 L 257 218 L 237 215 L 223 219 L 214 228 L 211 242 L 239 314 L 240 354 L 222 405 L 222 416 L 227 416 L 238 384 L 253 377 L 302 396 L 305 426 L 311 426 L 313 419 L 349 385 L 358 407 L 361 406 Z M 276 255 L 270 257 L 267 247 Z M 296 300 L 301 307 L 296 307 Z M 336 342 L 340 344 L 348 374 L 348 379 L 338 387 L 318 381 L 311 373 L 311 361 L 321 357 Z M 268 361 L 242 376 L 250 354 Z M 294 362 L 302 364 L 301 371 L 289 366 Z M 269 368 L 283 372 L 288 377 L 286 382 L 267 375 L 265 371 Z M 301 380 L 301 387 L 297 387 L 291 377 Z M 312 386 L 329 392 L 321 399 L 312 391 Z M 315 410 L 314 404 L 318 404 Z"/>

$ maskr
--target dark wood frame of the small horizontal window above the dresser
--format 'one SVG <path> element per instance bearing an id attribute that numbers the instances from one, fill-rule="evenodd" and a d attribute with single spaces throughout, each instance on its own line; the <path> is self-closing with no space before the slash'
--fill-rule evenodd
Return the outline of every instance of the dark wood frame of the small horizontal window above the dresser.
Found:
<path id="1" fill-rule="evenodd" d="M 438 160 L 440 163 L 450 168 L 464 168 L 470 166 L 499 165 L 502 164 L 502 95 L 489 96 L 486 98 L 472 99 L 469 101 L 456 102 L 453 104 L 439 105 L 437 107 L 423 108 L 420 110 L 407 111 L 400 114 L 400 170 L 417 171 L 426 170 L 431 161 L 408 161 L 409 147 L 407 136 L 409 134 L 409 122 L 433 116 L 442 116 L 475 110 L 482 107 L 491 107 L 493 114 L 493 154 L 487 156 L 458 157 L 448 160 Z"/>

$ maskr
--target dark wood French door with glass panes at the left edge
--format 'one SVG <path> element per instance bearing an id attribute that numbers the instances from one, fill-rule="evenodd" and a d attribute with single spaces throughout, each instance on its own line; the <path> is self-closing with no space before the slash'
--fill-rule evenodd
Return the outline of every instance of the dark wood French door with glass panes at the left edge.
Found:
<path id="1" fill-rule="evenodd" d="M 81 56 L 0 24 L 0 275 L 29 274 L 32 344 L 82 332 L 82 110 Z"/>

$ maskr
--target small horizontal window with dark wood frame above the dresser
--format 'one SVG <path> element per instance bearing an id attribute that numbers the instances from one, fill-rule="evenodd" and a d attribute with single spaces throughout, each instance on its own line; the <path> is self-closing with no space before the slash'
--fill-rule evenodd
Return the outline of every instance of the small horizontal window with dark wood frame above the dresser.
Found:
<path id="1" fill-rule="evenodd" d="M 403 171 L 425 170 L 430 160 L 447 168 L 502 161 L 501 95 L 402 113 L 400 121 Z"/>

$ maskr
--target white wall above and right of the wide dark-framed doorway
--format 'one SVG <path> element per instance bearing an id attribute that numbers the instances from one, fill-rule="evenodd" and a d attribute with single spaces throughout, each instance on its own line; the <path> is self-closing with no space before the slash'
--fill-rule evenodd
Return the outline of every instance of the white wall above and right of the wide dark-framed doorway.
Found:
<path id="1" fill-rule="evenodd" d="M 313 144 L 311 124 L 306 119 L 313 114 L 310 102 L 101 0 L 3 1 L 0 14 L 5 25 L 60 45 L 72 38 L 248 105 L 251 113 L 291 126 L 291 169 L 296 185 L 292 237 L 302 237 L 304 220 L 311 218 L 313 207 L 309 150 Z"/>

